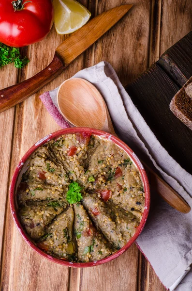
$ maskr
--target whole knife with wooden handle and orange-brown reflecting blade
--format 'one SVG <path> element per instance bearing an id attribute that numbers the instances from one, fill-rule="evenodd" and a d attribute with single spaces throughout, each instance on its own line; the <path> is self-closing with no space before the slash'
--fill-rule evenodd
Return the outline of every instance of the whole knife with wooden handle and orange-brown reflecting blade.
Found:
<path id="1" fill-rule="evenodd" d="M 28 80 L 0 90 L 0 112 L 22 102 L 58 76 L 77 56 L 88 49 L 124 16 L 133 4 L 112 8 L 92 18 L 57 49 L 53 61 Z"/>

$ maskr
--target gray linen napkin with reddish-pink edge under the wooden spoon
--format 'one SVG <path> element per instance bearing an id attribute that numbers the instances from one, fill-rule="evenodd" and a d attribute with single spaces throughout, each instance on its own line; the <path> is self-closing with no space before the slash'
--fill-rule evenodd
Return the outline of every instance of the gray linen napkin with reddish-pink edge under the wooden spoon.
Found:
<path id="1" fill-rule="evenodd" d="M 150 160 L 162 177 L 192 207 L 192 176 L 161 146 L 118 80 L 112 66 L 101 62 L 79 71 L 74 77 L 86 79 L 95 85 L 107 104 L 118 136 L 142 159 Z M 40 98 L 58 124 L 63 128 L 69 127 L 59 112 L 57 91 L 58 88 L 45 92 Z M 192 211 L 182 214 L 161 199 L 158 205 L 151 208 L 137 244 L 162 284 L 170 291 L 192 290 L 192 272 L 189 272 L 192 264 L 191 238 Z"/>

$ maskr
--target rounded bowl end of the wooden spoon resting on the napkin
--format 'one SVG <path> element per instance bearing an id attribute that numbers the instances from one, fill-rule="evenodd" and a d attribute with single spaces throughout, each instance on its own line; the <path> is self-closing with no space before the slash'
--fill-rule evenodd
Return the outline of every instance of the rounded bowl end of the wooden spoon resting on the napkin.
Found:
<path id="1" fill-rule="evenodd" d="M 74 126 L 102 129 L 116 135 L 104 99 L 89 81 L 80 78 L 64 81 L 59 86 L 58 105 L 65 119 Z"/>

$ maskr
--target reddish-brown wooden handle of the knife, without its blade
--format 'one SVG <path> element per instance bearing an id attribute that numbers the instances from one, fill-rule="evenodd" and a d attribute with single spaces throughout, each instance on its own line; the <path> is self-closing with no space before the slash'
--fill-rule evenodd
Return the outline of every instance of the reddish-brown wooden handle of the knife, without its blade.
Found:
<path id="1" fill-rule="evenodd" d="M 64 65 L 55 53 L 53 61 L 41 72 L 28 80 L 0 90 L 0 112 L 22 102 L 52 81 L 64 69 Z"/>

